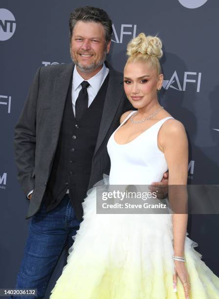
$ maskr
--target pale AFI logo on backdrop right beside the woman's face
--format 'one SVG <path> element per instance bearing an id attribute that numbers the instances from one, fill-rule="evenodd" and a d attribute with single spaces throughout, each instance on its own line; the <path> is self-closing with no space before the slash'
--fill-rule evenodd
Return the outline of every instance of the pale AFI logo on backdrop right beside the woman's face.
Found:
<path id="1" fill-rule="evenodd" d="M 201 84 L 201 73 L 197 72 L 184 72 L 184 78 L 183 78 L 183 85 L 181 86 L 179 82 L 179 77 L 176 73 L 176 71 L 173 73 L 173 76 L 170 80 L 164 80 L 163 81 L 163 88 L 169 89 L 173 88 L 179 91 L 185 91 L 186 86 L 188 83 L 193 83 L 196 85 L 196 91 L 200 91 L 200 84 Z"/>

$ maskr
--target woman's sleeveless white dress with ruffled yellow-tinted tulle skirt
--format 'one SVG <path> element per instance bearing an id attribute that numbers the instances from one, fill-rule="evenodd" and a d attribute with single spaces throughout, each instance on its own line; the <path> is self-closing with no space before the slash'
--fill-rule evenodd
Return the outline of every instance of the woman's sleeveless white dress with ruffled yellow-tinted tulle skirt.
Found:
<path id="1" fill-rule="evenodd" d="M 104 178 L 98 185 L 161 181 L 168 167 L 157 147 L 157 134 L 170 118 L 124 145 L 115 142 L 114 132 L 108 142 L 109 181 Z M 50 299 L 184 299 L 180 280 L 177 293 L 173 288 L 172 214 L 97 214 L 96 191 L 92 188 L 85 198 L 84 220 Z M 201 260 L 196 246 L 186 237 L 189 298 L 219 299 L 219 278 Z"/>

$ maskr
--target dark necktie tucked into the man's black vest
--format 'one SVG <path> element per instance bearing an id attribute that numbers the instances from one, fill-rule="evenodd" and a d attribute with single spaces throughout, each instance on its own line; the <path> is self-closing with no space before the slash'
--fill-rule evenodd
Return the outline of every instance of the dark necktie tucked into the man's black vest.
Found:
<path id="1" fill-rule="evenodd" d="M 84 115 L 85 111 L 88 109 L 88 86 L 89 83 L 87 81 L 82 82 L 82 89 L 78 94 L 78 98 L 75 104 L 75 118 L 76 120 L 80 120 Z"/>

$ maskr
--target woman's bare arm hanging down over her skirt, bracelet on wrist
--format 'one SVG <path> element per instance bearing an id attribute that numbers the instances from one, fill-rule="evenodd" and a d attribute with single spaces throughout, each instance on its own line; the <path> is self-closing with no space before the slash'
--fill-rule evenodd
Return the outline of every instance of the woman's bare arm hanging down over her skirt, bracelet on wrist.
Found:
<path id="1" fill-rule="evenodd" d="M 188 176 L 188 140 L 183 125 L 176 120 L 168 120 L 158 134 L 158 147 L 164 152 L 169 169 L 169 199 L 173 214 L 174 255 L 184 257 L 187 229 L 187 176 Z M 181 280 L 185 298 L 189 296 L 189 277 L 185 263 L 175 261 L 173 278 L 176 290 L 177 276 Z"/>

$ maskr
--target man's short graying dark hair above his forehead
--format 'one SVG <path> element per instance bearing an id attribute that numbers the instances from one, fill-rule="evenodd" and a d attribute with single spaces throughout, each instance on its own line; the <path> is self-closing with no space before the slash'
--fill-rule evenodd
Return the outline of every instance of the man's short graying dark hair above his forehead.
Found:
<path id="1" fill-rule="evenodd" d="M 73 34 L 74 26 L 78 21 L 101 23 L 105 29 L 106 44 L 111 41 L 112 21 L 110 20 L 110 17 L 106 13 L 106 11 L 104 11 L 103 9 L 92 6 L 76 8 L 70 14 L 69 19 L 70 40 Z"/>

